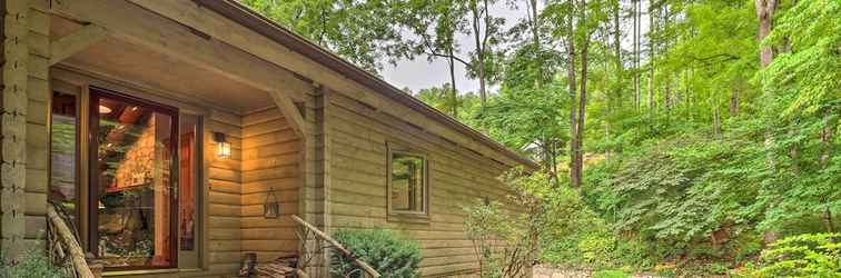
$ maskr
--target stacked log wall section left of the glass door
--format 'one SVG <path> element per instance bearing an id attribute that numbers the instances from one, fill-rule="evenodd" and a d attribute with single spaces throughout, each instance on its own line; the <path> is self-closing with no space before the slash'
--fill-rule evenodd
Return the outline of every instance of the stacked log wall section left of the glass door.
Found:
<path id="1" fill-rule="evenodd" d="M 49 169 L 49 17 L 28 1 L 2 2 L 2 227 L 16 256 L 43 236 Z"/>

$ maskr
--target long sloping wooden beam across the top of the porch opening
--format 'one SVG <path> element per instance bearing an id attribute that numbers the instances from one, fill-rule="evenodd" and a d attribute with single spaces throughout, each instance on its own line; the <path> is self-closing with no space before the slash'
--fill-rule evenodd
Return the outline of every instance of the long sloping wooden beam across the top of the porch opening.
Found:
<path id="1" fill-rule="evenodd" d="M 46 13 L 100 26 L 115 38 L 254 88 L 265 91 L 283 90 L 284 95 L 296 101 L 304 99 L 303 92 L 311 90 L 309 82 L 277 64 L 127 1 L 29 0 L 29 4 Z"/>

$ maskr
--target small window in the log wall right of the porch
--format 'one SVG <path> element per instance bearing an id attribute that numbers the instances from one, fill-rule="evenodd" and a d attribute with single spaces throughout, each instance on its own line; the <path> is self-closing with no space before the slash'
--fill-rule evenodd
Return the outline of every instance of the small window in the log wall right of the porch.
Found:
<path id="1" fill-rule="evenodd" d="M 426 214 L 428 211 L 426 157 L 418 153 L 388 151 L 389 212 Z"/>

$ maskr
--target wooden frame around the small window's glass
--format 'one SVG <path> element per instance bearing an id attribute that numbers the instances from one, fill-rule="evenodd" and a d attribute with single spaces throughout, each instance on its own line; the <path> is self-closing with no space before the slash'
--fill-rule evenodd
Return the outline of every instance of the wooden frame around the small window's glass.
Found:
<path id="1" fill-rule="evenodd" d="M 394 155 L 406 155 L 406 156 L 413 156 L 418 157 L 423 159 L 423 187 L 422 187 L 422 203 L 423 203 L 423 210 L 400 210 L 395 209 L 393 201 L 392 201 L 392 161 L 394 158 Z M 414 216 L 414 217 L 429 217 L 429 159 L 428 157 L 418 151 L 414 150 L 407 150 L 402 148 L 396 148 L 392 143 L 386 143 L 386 202 L 387 202 L 387 210 L 389 216 Z"/>

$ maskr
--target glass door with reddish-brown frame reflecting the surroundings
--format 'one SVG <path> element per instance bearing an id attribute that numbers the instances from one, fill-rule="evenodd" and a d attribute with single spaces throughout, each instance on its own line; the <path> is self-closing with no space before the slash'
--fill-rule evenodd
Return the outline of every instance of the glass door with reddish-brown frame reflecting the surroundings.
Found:
<path id="1" fill-rule="evenodd" d="M 178 113 L 91 89 L 91 250 L 106 267 L 176 266 Z"/>

